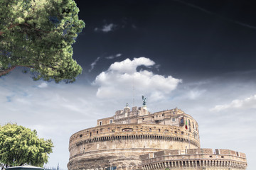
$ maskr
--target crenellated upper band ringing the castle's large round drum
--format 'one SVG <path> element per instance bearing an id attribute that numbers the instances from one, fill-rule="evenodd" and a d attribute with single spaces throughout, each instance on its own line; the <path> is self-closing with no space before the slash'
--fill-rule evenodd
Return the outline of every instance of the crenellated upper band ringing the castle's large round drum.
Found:
<path id="1" fill-rule="evenodd" d="M 154 124 L 109 124 L 76 132 L 70 137 L 70 148 L 83 143 L 111 140 L 166 140 L 187 142 L 200 147 L 198 138 L 182 127 Z M 188 147 L 188 144 L 187 144 Z M 184 147 L 185 148 L 185 147 Z"/>

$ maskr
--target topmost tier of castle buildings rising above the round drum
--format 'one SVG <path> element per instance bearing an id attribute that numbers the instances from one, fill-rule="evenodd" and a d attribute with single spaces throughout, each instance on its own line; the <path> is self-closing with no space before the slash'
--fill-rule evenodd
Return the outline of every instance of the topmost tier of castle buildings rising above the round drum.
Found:
<path id="1" fill-rule="evenodd" d="M 188 115 L 178 108 L 167 111 L 150 113 L 145 107 L 133 107 L 132 110 L 127 106 L 124 110 L 116 111 L 114 116 L 97 120 L 97 126 L 109 124 L 156 124 L 186 127 L 193 137 L 199 140 L 198 123 L 191 115 Z"/>

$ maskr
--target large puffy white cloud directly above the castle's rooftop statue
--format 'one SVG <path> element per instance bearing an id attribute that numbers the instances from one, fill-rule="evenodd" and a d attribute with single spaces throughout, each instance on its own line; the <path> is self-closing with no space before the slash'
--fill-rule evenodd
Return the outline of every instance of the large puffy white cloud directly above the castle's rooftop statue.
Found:
<path id="1" fill-rule="evenodd" d="M 94 85 L 99 86 L 97 97 L 114 98 L 124 96 L 125 98 L 131 96 L 134 86 L 138 96 L 144 94 L 149 96 L 152 101 L 166 98 L 171 91 L 176 89 L 178 83 L 181 83 L 181 79 L 171 76 L 164 77 L 144 69 L 137 71 L 139 66 L 150 68 L 154 64 L 154 61 L 146 57 L 114 62 L 106 72 L 97 75 L 93 82 Z"/>

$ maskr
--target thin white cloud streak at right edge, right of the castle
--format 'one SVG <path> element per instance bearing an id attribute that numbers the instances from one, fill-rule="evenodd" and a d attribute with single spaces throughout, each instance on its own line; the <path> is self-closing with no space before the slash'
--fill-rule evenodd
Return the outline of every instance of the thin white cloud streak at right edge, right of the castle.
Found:
<path id="1" fill-rule="evenodd" d="M 210 111 L 223 111 L 228 108 L 256 108 L 256 94 L 243 100 L 236 99 L 229 104 L 217 105 L 214 108 L 211 108 Z"/>

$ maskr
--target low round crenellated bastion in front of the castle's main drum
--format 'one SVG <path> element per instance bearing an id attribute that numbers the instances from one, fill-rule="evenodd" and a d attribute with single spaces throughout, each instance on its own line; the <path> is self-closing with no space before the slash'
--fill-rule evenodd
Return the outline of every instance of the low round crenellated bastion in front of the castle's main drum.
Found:
<path id="1" fill-rule="evenodd" d="M 246 169 L 245 154 L 229 149 L 172 149 L 143 154 L 142 168 L 151 169 Z"/>

